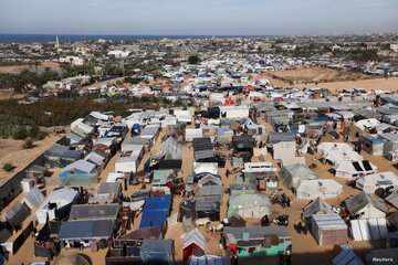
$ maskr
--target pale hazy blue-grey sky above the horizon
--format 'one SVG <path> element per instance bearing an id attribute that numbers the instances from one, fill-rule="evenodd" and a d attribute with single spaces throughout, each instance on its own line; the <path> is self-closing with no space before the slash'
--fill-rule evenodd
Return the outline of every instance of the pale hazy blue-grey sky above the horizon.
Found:
<path id="1" fill-rule="evenodd" d="M 0 0 L 0 33 L 398 32 L 398 0 Z"/>

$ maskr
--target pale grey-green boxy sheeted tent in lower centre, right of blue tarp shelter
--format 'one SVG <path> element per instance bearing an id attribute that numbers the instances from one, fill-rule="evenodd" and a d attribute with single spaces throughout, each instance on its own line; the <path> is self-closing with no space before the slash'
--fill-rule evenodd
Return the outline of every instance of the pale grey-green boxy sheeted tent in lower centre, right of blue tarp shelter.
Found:
<path id="1" fill-rule="evenodd" d="M 262 193 L 232 193 L 228 204 L 228 218 L 239 214 L 243 219 L 261 219 L 271 214 L 270 198 Z"/>

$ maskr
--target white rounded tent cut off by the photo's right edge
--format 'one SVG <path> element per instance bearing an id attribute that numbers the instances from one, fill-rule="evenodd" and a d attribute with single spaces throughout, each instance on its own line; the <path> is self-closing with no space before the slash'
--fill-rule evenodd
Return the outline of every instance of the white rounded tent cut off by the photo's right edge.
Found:
<path id="1" fill-rule="evenodd" d="M 379 188 L 387 189 L 390 187 L 398 188 L 398 177 L 391 171 L 362 177 L 356 181 L 355 186 L 355 188 L 366 193 L 375 193 Z"/>

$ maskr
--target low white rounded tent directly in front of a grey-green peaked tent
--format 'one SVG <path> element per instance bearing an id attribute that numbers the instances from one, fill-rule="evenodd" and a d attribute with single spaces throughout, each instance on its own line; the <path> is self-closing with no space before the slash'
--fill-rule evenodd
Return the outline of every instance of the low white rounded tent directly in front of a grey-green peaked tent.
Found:
<path id="1" fill-rule="evenodd" d="M 332 199 L 343 192 L 343 186 L 331 179 L 303 180 L 296 189 L 297 199 Z"/>

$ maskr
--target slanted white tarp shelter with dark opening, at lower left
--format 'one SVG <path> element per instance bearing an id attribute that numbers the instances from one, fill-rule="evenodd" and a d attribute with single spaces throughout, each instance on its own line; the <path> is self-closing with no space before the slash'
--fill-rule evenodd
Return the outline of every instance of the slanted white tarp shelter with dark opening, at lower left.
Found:
<path id="1" fill-rule="evenodd" d="M 77 197 L 78 192 L 70 188 L 62 188 L 51 192 L 36 211 L 39 223 L 44 224 L 48 220 L 66 216 Z"/>

